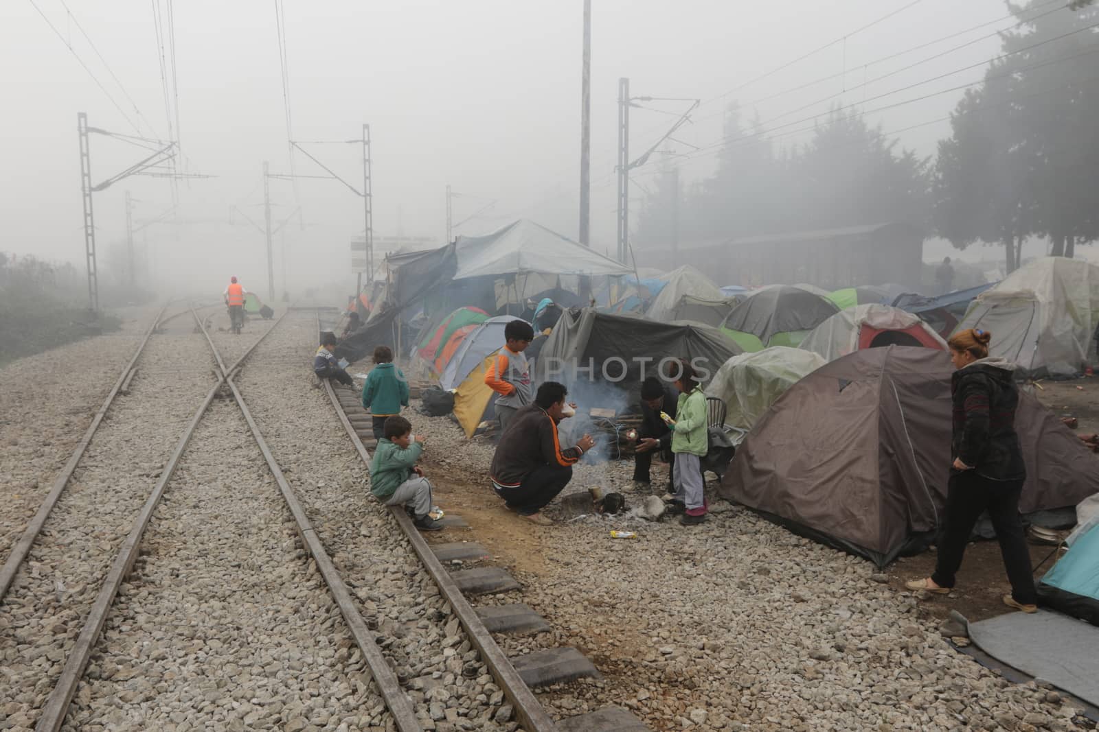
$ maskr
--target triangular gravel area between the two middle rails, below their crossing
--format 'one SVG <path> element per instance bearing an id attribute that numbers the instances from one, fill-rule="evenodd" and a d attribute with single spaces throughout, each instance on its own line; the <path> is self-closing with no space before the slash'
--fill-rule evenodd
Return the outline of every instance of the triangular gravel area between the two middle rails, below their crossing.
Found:
<path id="1" fill-rule="evenodd" d="M 236 403 L 168 483 L 70 707 L 73 729 L 391 725 Z"/>

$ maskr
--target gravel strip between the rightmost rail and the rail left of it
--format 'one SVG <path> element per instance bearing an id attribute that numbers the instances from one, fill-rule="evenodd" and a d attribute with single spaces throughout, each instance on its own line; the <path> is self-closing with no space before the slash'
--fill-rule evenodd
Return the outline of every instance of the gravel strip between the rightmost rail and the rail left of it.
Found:
<path id="1" fill-rule="evenodd" d="M 365 465 L 324 390 L 314 386 L 315 342 L 314 316 L 291 313 L 237 379 L 271 452 L 359 599 L 359 611 L 381 637 L 425 729 L 514 730 L 502 691 L 449 606 L 369 495 Z"/>

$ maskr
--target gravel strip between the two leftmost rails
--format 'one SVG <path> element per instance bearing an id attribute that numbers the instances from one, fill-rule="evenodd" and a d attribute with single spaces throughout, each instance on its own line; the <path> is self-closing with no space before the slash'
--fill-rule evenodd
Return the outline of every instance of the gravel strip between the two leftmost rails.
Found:
<path id="1" fill-rule="evenodd" d="M 33 727 L 137 510 L 214 383 L 209 348 L 192 331 L 149 339 L 131 394 L 108 412 L 0 604 L 9 729 Z"/>

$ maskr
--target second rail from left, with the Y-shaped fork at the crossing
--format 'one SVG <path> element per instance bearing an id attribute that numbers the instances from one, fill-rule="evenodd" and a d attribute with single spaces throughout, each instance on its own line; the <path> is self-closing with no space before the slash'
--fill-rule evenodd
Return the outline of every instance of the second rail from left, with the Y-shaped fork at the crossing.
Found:
<path id="1" fill-rule="evenodd" d="M 198 314 L 193 308 L 190 312 L 195 316 L 196 324 L 201 327 Z M 282 314 L 282 317 L 286 317 L 285 313 Z M 260 336 L 256 342 L 253 344 L 247 351 L 245 351 L 244 356 L 242 356 L 241 359 L 233 364 L 233 369 L 240 368 L 244 359 L 246 359 L 256 349 L 259 342 L 275 329 L 275 326 L 277 326 L 281 319 L 282 318 L 280 317 L 276 320 L 275 324 L 268 328 L 267 333 Z M 206 334 L 206 328 L 202 328 L 202 333 Z M 208 342 L 211 342 L 209 340 L 209 335 L 207 335 L 207 340 Z M 130 570 L 133 568 L 133 564 L 137 560 L 137 555 L 141 553 L 141 539 L 145 533 L 145 529 L 148 527 L 149 519 L 153 517 L 153 511 L 156 510 L 157 505 L 160 503 L 165 488 L 171 480 L 173 474 L 176 472 L 176 468 L 179 465 L 179 461 L 182 458 L 184 452 L 187 450 L 187 446 L 190 443 L 191 437 L 195 435 L 195 429 L 198 427 L 202 416 L 206 414 L 210 404 L 218 395 L 218 392 L 225 383 L 225 378 L 222 375 L 222 373 L 225 372 L 225 368 L 221 363 L 220 357 L 217 358 L 217 361 L 221 370 L 220 372 L 213 372 L 217 383 L 207 393 L 206 398 L 202 401 L 202 405 L 195 413 L 195 416 L 191 417 L 191 421 L 187 425 L 187 429 L 184 430 L 182 436 L 176 443 L 176 449 L 173 451 L 164 471 L 160 473 L 159 480 L 153 487 L 153 492 L 149 494 L 148 498 L 145 499 L 145 504 L 142 506 L 141 511 L 137 514 L 137 518 L 134 519 L 133 525 L 130 528 L 130 533 L 126 534 L 125 541 L 122 542 L 119 554 L 114 559 L 114 563 L 111 565 L 110 571 L 107 573 L 107 577 L 103 579 L 103 584 L 99 588 L 99 594 L 96 596 L 96 601 L 92 604 L 91 610 L 88 612 L 88 618 L 85 620 L 84 627 L 80 629 L 80 635 L 77 637 L 76 645 L 65 658 L 65 666 L 62 669 L 62 675 L 57 679 L 57 683 L 54 684 L 53 690 L 49 692 L 45 703 L 42 706 L 42 716 L 38 718 L 38 722 L 34 728 L 36 732 L 58 732 L 65 723 L 65 716 L 68 713 L 69 705 L 73 701 L 73 697 L 76 695 L 76 688 L 79 685 L 80 679 L 84 677 L 85 668 L 87 668 L 88 661 L 91 658 L 91 653 L 96 647 L 96 643 L 99 641 L 99 635 L 107 622 L 107 615 L 110 612 L 111 605 L 114 604 L 114 598 L 119 594 L 119 587 L 122 586 L 126 575 L 130 573 Z"/>

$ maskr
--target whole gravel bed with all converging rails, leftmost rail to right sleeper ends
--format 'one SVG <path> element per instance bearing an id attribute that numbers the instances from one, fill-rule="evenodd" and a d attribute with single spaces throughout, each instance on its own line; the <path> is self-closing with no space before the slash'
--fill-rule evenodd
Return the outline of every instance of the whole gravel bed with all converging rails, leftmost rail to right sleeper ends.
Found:
<path id="1" fill-rule="evenodd" d="M 324 458 L 309 455 L 309 426 L 282 402 L 308 361 L 264 345 L 287 315 L 230 365 L 221 351 L 245 340 L 192 318 L 186 334 L 174 333 L 178 318 L 163 338 L 151 328 L 18 566 L 0 606 L 4 727 L 645 729 L 617 708 L 555 724 L 526 683 L 582 675 L 586 660 L 513 663 L 403 511 L 379 509 L 360 482 L 332 493 L 310 477 L 323 468 L 302 473 L 302 457 Z M 280 338 L 315 336 L 312 317 L 290 319 L 296 330 Z M 264 368 L 242 371 L 262 345 Z M 315 391 L 304 396 L 315 406 Z M 368 460 L 351 412 L 342 424 Z M 274 426 L 270 444 L 262 424 Z M 331 442 L 338 427 L 328 428 Z M 509 618 L 495 617 L 495 630 Z"/>

